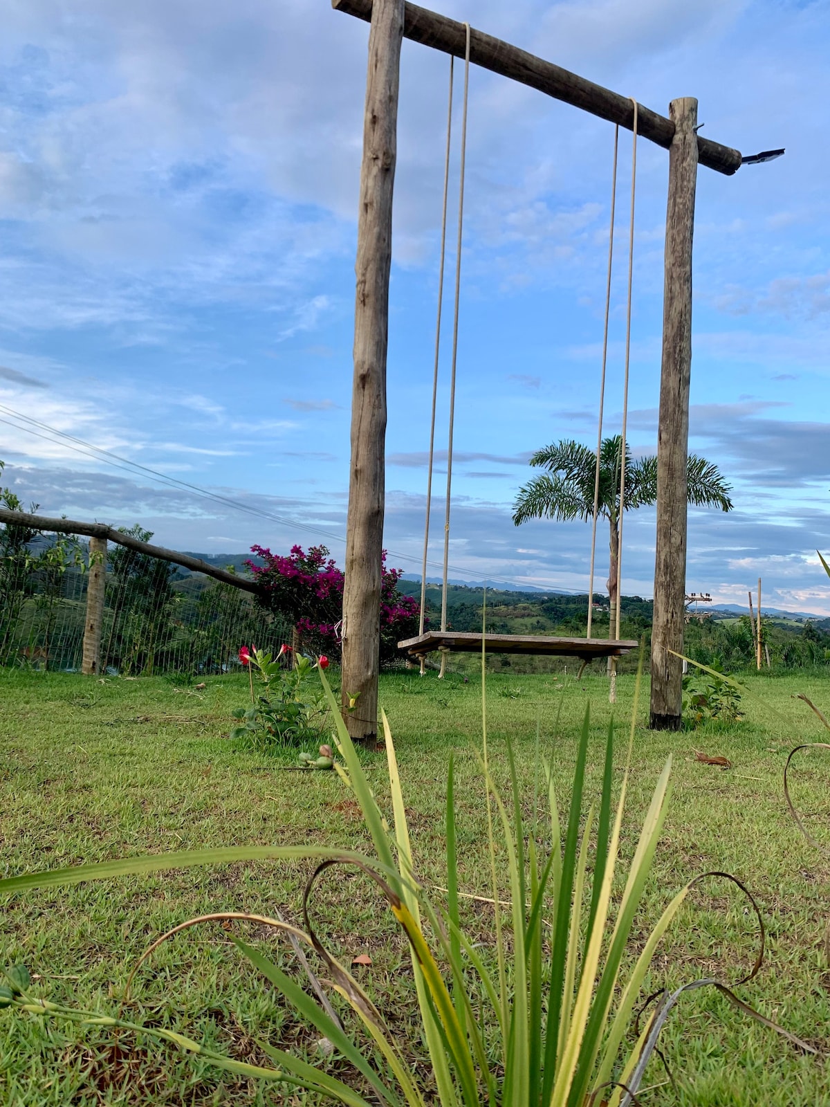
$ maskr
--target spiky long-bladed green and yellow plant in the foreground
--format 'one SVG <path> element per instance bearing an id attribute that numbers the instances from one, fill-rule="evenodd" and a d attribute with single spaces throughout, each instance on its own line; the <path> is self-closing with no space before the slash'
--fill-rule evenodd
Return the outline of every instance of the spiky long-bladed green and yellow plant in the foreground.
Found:
<path id="1" fill-rule="evenodd" d="M 615 900 L 612 921 L 612 887 L 615 878 L 619 879 L 618 852 L 629 782 L 626 758 L 622 787 L 614 805 L 612 728 L 609 728 L 605 744 L 599 804 L 585 813 L 589 746 L 589 713 L 585 712 L 562 836 L 553 783 L 543 766 L 537 765 L 535 799 L 540 803 L 533 804 L 530 823 L 522 814 L 516 766 L 509 748 L 510 795 L 505 801 L 499 794 L 490 774 L 484 705 L 480 765 L 487 797 L 496 928 L 495 963 L 488 964 L 461 924 L 452 762 L 446 797 L 447 898 L 446 904 L 440 907 L 426 894 L 417 879 L 397 761 L 385 715 L 392 827 L 375 801 L 325 675 L 321 672 L 320 676 L 345 763 L 345 768 L 340 767 L 339 772 L 361 806 L 374 845 L 373 858 L 310 846 L 200 850 L 13 877 L 0 880 L 0 894 L 196 865 L 317 859 L 320 865 L 305 891 L 304 930 L 281 919 L 256 918 L 288 934 L 295 948 L 304 945 L 322 958 L 334 990 L 362 1022 L 370 1038 L 370 1049 L 360 1048 L 343 1030 L 324 993 L 320 993 L 318 1002 L 262 952 L 236 935 L 230 937 L 298 1014 L 351 1063 L 355 1086 L 267 1043 L 262 1043 L 262 1049 L 273 1061 L 273 1068 L 224 1057 L 183 1035 L 159 1027 L 144 1027 L 120 1015 L 77 1011 L 39 999 L 31 994 L 21 966 L 7 973 L 9 986 L 0 993 L 0 1005 L 148 1034 L 231 1072 L 294 1085 L 352 1107 L 370 1107 L 371 1103 L 378 1101 L 388 1107 L 424 1107 L 425 1093 L 377 1008 L 353 975 L 325 950 L 309 921 L 308 901 L 318 875 L 334 865 L 352 865 L 374 880 L 409 941 L 423 1036 L 443 1107 L 479 1107 L 483 1103 L 491 1107 L 583 1107 L 598 1097 L 611 1105 L 627 1100 L 630 1093 L 636 1092 L 637 1074 L 644 1067 L 637 1065 L 637 1061 L 642 1062 L 641 1047 L 649 1027 L 640 1035 L 627 1059 L 621 1057 L 623 1038 L 657 942 L 689 887 L 684 887 L 666 907 L 633 968 L 623 974 L 632 923 L 665 817 L 671 758 L 654 789 L 622 896 Z M 630 753 L 631 741 L 629 756 Z M 546 810 L 543 820 L 537 817 L 538 807 Z M 542 842 L 548 845 L 543 847 Z M 591 871 L 592 846 L 595 860 Z M 504 857 L 507 858 L 506 870 Z M 499 867 L 509 882 L 506 900 L 499 887 Z M 174 933 L 219 918 L 255 917 L 231 912 L 187 920 L 155 942 L 147 954 Z"/>

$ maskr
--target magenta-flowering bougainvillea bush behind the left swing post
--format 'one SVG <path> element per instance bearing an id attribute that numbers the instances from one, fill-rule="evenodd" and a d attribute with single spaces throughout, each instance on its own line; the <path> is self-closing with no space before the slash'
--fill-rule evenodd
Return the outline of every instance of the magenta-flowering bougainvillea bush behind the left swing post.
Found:
<path id="1" fill-rule="evenodd" d="M 262 588 L 258 597 L 269 611 L 288 619 L 297 630 L 300 648 L 308 653 L 325 653 L 340 660 L 340 624 L 343 618 L 343 570 L 325 546 L 312 546 L 308 554 L 293 546 L 288 557 L 252 546 L 264 565 L 248 561 Z M 383 551 L 381 584 L 381 663 L 398 656 L 397 643 L 418 632 L 419 607 L 411 596 L 402 596 L 397 582 L 403 569 L 386 568 Z"/>

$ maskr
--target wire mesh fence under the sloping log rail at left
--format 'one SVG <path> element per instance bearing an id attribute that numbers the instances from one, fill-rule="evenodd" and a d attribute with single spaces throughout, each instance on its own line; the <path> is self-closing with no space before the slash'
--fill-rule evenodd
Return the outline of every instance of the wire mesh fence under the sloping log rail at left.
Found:
<path id="1" fill-rule="evenodd" d="M 117 549 L 107 558 L 101 671 L 122 675 L 238 671 L 240 645 L 279 650 L 291 627 L 249 592 Z M 0 591 L 0 666 L 80 672 L 87 573 L 35 569 Z"/>

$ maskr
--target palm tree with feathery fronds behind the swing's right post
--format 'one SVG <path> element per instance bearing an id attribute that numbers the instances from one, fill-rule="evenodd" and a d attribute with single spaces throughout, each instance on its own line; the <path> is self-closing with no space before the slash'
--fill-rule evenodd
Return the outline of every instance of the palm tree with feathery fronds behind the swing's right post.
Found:
<path id="1" fill-rule="evenodd" d="M 614 435 L 602 439 L 600 449 L 600 495 L 598 514 L 609 520 L 610 566 L 608 592 L 611 601 L 609 638 L 615 638 L 616 567 L 620 557 L 620 462 L 622 438 Z M 596 454 L 578 442 L 562 438 L 553 445 L 537 451 L 530 464 L 548 472 L 533 477 L 519 489 L 513 504 L 513 523 L 518 527 L 528 519 L 582 519 L 593 518 Z M 695 507 L 733 508 L 728 485 L 718 467 L 696 454 L 688 455 L 686 466 L 688 503 Z M 625 445 L 625 510 L 654 504 L 657 498 L 657 458 L 641 457 L 636 462 Z"/>

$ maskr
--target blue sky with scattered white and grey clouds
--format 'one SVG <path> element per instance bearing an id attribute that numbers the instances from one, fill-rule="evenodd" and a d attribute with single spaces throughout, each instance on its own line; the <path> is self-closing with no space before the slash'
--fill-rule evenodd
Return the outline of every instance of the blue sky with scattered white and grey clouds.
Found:
<path id="1" fill-rule="evenodd" d="M 0 20 L 3 483 L 44 514 L 139 523 L 174 548 L 322 541 L 342 563 L 367 24 L 328 0 L 0 0 Z M 787 148 L 734 177 L 698 172 L 691 449 L 720 467 L 735 510 L 689 513 L 686 583 L 744 603 L 760 576 L 765 606 L 830 613 L 816 555 L 830 548 L 830 148 L 817 108 L 830 4 L 478 0 L 474 25 L 663 114 L 694 95 L 703 134 L 744 153 Z M 405 41 L 401 64 L 385 544 L 418 572 L 448 59 Z M 533 451 L 595 444 L 613 139 L 611 124 L 470 72 L 454 579 L 587 588 L 590 527 L 517 528 L 511 505 Z M 635 456 L 656 448 L 667 165 L 640 142 Z M 622 416 L 629 132 L 618 187 L 609 433 Z M 222 499 L 107 465 L 21 415 Z M 598 546 L 601 584 L 602 531 Z M 624 592 L 651 596 L 653 570 L 642 509 L 625 523 Z"/>

